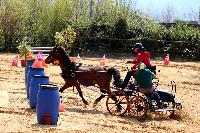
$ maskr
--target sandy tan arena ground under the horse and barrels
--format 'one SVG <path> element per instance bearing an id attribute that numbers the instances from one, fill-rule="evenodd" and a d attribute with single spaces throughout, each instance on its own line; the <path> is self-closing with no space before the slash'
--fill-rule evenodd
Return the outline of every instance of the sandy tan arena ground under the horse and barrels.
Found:
<path id="1" fill-rule="evenodd" d="M 82 87 L 84 97 L 90 105 L 84 105 L 75 90 L 69 88 L 62 93 L 65 112 L 60 113 L 56 126 L 38 125 L 36 112 L 29 109 L 24 84 L 25 68 L 11 67 L 14 54 L 0 54 L 0 132 L 65 132 L 65 133 L 198 133 L 200 132 L 200 63 L 199 62 L 170 62 L 163 66 L 162 61 L 155 61 L 160 73 L 160 88 L 171 90 L 170 81 L 177 83 L 178 99 L 183 109 L 180 119 L 149 118 L 138 121 L 129 116 L 119 117 L 110 115 L 106 109 L 106 98 L 99 102 L 97 109 L 92 103 L 99 96 L 98 88 Z M 125 64 L 128 58 L 108 59 L 108 66 L 120 70 L 122 77 L 126 74 Z M 99 64 L 98 58 L 82 58 L 87 65 Z M 58 66 L 49 66 L 45 70 L 50 81 L 61 87 L 64 84 L 60 77 Z"/>

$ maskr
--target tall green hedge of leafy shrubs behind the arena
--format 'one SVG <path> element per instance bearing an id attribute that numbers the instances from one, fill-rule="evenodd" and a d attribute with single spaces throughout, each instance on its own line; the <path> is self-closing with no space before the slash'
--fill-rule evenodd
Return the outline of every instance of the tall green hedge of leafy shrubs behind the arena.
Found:
<path id="1" fill-rule="evenodd" d="M 177 22 L 167 29 L 141 12 L 131 9 L 131 0 L 77 2 L 1 1 L 0 49 L 16 51 L 25 36 L 30 38 L 31 46 L 54 46 L 55 33 L 70 25 L 77 33 L 75 47 L 87 45 L 95 49 L 107 46 L 110 49 L 127 49 L 140 40 L 152 52 L 176 50 L 178 56 L 199 59 L 199 30 L 184 22 Z M 81 39 L 91 37 L 95 39 Z M 164 40 L 165 43 L 159 44 L 159 40 Z M 165 46 L 161 47 L 163 44 Z M 168 51 L 162 51 L 166 49 Z"/>

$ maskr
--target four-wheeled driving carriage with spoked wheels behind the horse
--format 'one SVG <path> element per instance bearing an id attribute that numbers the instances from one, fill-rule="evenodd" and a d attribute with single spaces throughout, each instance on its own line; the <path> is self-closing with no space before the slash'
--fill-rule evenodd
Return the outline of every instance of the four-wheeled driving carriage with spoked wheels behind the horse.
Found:
<path id="1" fill-rule="evenodd" d="M 145 96 L 139 92 L 139 86 L 134 84 L 134 79 L 131 79 L 124 90 L 114 87 L 106 100 L 107 110 L 110 114 L 123 116 L 128 114 L 131 117 L 141 117 L 148 113 L 154 113 L 158 115 L 172 115 L 177 110 L 182 109 L 180 102 L 175 100 L 176 83 L 171 81 L 171 92 L 158 89 L 159 80 L 153 82 L 155 91 L 160 95 L 163 101 L 163 109 L 158 109 L 156 101 L 148 96 Z M 113 97 L 117 98 L 113 100 Z"/>

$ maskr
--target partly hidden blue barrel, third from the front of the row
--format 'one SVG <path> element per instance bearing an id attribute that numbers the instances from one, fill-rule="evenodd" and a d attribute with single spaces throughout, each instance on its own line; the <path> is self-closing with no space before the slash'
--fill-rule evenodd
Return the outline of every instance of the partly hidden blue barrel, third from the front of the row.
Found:
<path id="1" fill-rule="evenodd" d="M 42 76 L 45 75 L 44 68 L 29 67 L 29 71 L 28 71 L 28 74 L 27 74 L 27 83 L 26 83 L 27 98 L 29 98 L 29 87 L 30 87 L 30 82 L 31 82 L 33 75 L 42 75 Z"/>

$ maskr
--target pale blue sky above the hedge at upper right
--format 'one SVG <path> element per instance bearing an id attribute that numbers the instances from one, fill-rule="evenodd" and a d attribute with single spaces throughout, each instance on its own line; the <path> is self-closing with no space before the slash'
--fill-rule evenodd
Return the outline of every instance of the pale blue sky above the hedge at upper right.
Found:
<path id="1" fill-rule="evenodd" d="M 136 9 L 154 19 L 164 19 L 170 12 L 172 20 L 199 20 L 200 0 L 134 0 Z"/>

